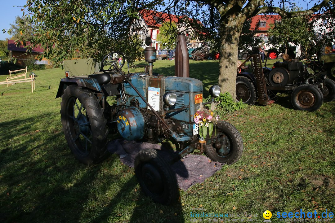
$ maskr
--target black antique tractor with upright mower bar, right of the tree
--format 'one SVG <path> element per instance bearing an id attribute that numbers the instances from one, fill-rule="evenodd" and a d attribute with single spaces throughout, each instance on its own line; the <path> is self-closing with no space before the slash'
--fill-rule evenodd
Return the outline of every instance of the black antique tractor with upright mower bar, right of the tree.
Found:
<path id="1" fill-rule="evenodd" d="M 250 69 L 243 69 L 251 61 Z M 262 67 L 259 55 L 251 55 L 238 67 L 236 99 L 254 105 L 268 104 L 277 93 L 290 93 L 291 103 L 297 110 L 315 111 L 323 103 L 334 100 L 335 82 L 327 77 L 327 67 L 309 60 L 299 59 L 276 62 L 273 68 Z"/>

